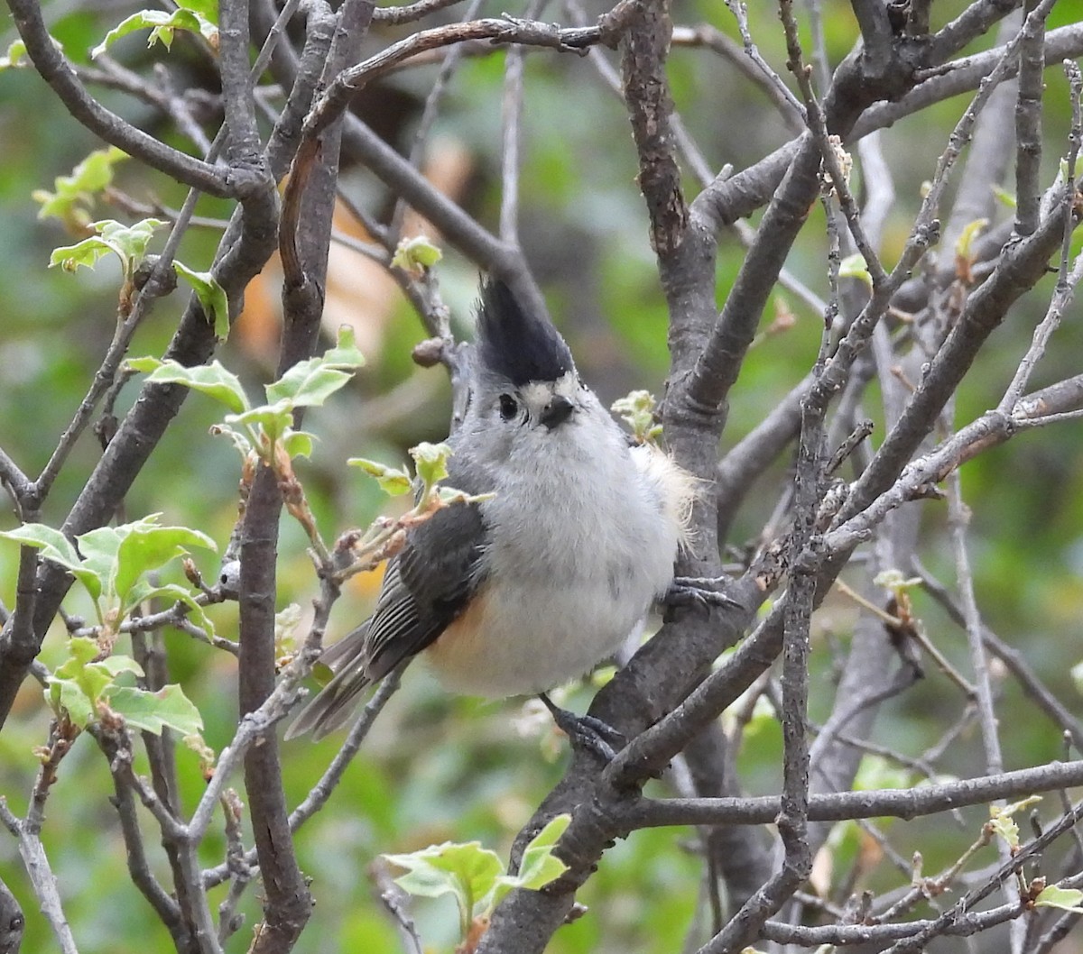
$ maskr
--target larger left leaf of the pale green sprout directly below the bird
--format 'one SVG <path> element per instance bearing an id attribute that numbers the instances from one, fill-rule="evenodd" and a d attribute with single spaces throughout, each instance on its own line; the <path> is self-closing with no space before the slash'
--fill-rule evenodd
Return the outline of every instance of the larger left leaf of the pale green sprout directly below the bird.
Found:
<path id="1" fill-rule="evenodd" d="M 474 904 L 490 892 L 504 871 L 496 852 L 482 848 L 480 842 L 465 845 L 445 842 L 410 854 L 383 857 L 407 870 L 395 878 L 395 884 L 410 895 L 423 898 L 455 895 L 464 924 L 469 924 Z"/>

